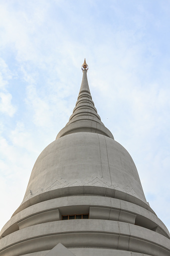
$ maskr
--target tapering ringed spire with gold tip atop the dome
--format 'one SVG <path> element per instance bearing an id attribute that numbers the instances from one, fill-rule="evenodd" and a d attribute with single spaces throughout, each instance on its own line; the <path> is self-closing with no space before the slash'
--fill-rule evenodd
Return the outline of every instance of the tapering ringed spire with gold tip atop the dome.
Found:
<path id="1" fill-rule="evenodd" d="M 112 133 L 101 122 L 101 118 L 92 101 L 87 80 L 88 65 L 86 59 L 84 59 L 81 68 L 83 71 L 83 78 L 76 106 L 73 109 L 73 114 L 70 116 L 69 122 L 58 133 L 56 139 L 75 132 L 99 133 L 114 139 Z"/>

